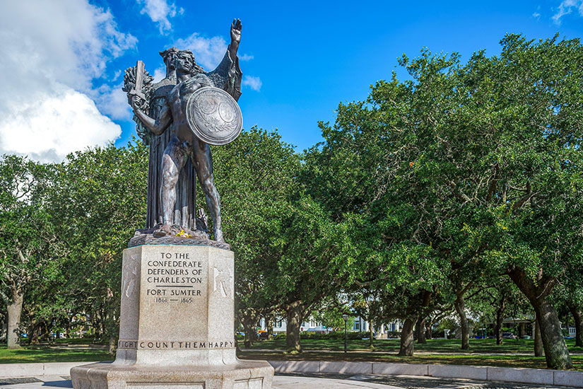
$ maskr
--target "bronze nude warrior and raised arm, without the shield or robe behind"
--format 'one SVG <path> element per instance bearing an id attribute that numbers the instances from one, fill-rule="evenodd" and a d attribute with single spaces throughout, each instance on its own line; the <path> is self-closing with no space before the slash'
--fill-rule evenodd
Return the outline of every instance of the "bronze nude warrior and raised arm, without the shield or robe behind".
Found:
<path id="1" fill-rule="evenodd" d="M 213 161 L 211 148 L 204 141 L 194 136 L 187 122 L 187 101 L 189 97 L 203 86 L 214 86 L 227 91 L 235 100 L 241 95 L 241 71 L 237 50 L 241 40 L 241 21 L 233 21 L 230 29 L 231 42 L 223 61 L 208 73 L 194 62 L 194 55 L 189 50 L 172 50 L 177 85 L 165 97 L 160 110 L 154 118 L 149 117 L 140 108 L 140 98 L 134 95 L 131 105 L 136 117 L 153 134 L 160 135 L 170 127 L 170 143 L 162 158 L 162 187 L 160 202 L 162 204 L 163 224 L 155 236 L 172 234 L 172 211 L 176 202 L 176 184 L 180 170 L 189 157 L 196 169 L 196 176 L 204 191 L 206 205 L 213 219 L 214 240 L 224 242 L 220 223 L 220 197 L 213 180 Z M 170 54 L 170 53 L 169 53 Z"/>

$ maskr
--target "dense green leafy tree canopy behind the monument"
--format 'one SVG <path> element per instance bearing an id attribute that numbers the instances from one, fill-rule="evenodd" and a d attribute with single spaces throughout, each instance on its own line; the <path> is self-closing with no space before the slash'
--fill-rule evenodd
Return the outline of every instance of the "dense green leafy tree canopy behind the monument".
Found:
<path id="1" fill-rule="evenodd" d="M 583 334 L 583 47 L 500 43 L 467 62 L 404 55 L 405 80 L 394 72 L 338 105 L 334 124 L 319 123 L 324 141 L 302 153 L 257 127 L 213 148 L 247 346 L 261 317 L 285 315 L 288 352 L 301 352 L 312 310 L 334 306 L 337 321 L 352 306 L 375 325 L 402 320 L 401 355 L 413 354 L 414 327 L 455 310 L 467 348 L 468 313 L 495 320 L 501 342 L 514 307 L 534 312 L 548 366 L 571 366 L 557 308 Z M 14 334 L 24 302 L 31 332 L 83 313 L 113 339 L 147 154 L 136 141 L 54 166 L 1 159 L 1 292 Z M 26 294 L 32 279 L 54 280 L 59 295 L 38 303 L 47 286 Z"/>

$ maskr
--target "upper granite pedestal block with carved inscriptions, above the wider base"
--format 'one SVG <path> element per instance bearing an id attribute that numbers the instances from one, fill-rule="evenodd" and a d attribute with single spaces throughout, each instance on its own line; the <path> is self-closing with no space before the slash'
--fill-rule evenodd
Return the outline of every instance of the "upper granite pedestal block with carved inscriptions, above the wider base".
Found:
<path id="1" fill-rule="evenodd" d="M 150 351 L 167 350 L 173 363 L 172 352 L 206 358 L 198 351 L 217 350 L 208 355 L 223 358 L 235 349 L 233 321 L 225 320 L 234 310 L 230 252 L 144 245 L 125 252 L 122 274 L 118 349 L 141 363 L 161 358 Z"/>

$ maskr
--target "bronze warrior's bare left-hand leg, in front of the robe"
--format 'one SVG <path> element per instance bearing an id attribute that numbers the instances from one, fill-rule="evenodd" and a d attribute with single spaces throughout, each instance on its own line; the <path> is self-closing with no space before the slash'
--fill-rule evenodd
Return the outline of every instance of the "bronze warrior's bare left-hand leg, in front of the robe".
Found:
<path id="1" fill-rule="evenodd" d="M 162 157 L 162 187 L 160 190 L 160 203 L 162 204 L 163 226 L 160 233 L 172 233 L 172 214 L 176 204 L 176 183 L 178 174 L 187 162 L 189 146 L 179 141 L 176 137 L 170 139 L 170 143 L 164 150 Z"/>

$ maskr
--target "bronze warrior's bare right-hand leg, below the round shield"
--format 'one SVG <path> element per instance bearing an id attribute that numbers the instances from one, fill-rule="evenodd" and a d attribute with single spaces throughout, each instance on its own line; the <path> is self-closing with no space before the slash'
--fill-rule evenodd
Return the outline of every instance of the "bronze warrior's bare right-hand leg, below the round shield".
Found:
<path id="1" fill-rule="evenodd" d="M 199 178 L 204 192 L 206 207 L 213 218 L 214 238 L 217 242 L 224 242 L 223 229 L 220 226 L 220 197 L 213 179 L 211 147 L 204 141 L 195 140 L 192 145 L 192 161 L 196 168 L 196 177 Z"/>

